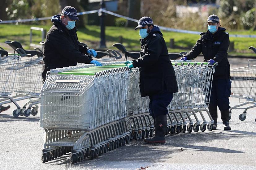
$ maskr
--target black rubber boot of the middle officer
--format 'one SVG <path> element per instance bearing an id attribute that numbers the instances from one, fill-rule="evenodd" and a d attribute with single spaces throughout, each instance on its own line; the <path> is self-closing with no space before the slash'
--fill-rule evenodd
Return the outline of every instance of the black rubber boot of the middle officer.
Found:
<path id="1" fill-rule="evenodd" d="M 147 143 L 165 143 L 165 133 L 167 129 L 166 115 L 159 115 L 155 120 L 155 136 L 145 138 L 144 142 Z"/>

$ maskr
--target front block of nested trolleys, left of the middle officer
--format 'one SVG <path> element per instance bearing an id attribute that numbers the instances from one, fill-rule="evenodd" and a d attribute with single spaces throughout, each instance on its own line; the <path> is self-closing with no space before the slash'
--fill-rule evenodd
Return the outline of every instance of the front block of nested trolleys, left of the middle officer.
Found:
<path id="1" fill-rule="evenodd" d="M 93 159 L 129 141 L 129 70 L 124 64 L 80 65 L 47 74 L 41 89 L 43 162 L 71 150 L 72 163 Z"/>

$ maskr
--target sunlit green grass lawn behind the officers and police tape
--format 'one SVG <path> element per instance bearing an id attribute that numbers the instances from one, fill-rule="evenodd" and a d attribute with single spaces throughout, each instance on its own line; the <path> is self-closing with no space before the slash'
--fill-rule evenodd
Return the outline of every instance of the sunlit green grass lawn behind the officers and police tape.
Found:
<path id="1" fill-rule="evenodd" d="M 18 40 L 21 42 L 25 49 L 28 49 L 30 27 L 32 26 L 44 28 L 46 31 L 48 31 L 51 27 L 51 25 L 0 24 L 0 42 L 3 43 L 6 40 Z M 256 34 L 256 31 L 248 30 L 228 32 L 229 34 Z M 84 42 L 94 49 L 98 48 L 100 41 L 99 26 L 88 25 L 86 28 L 79 28 L 77 34 L 80 42 Z M 115 49 L 115 47 L 112 47 L 112 45 L 119 42 L 119 36 L 123 36 L 123 44 L 128 50 L 140 50 L 139 31 L 135 31 L 133 28 L 124 27 L 106 27 L 107 48 Z M 168 47 L 170 46 L 170 39 L 174 39 L 175 49 L 168 48 L 169 52 L 181 52 L 189 51 L 195 44 L 196 40 L 200 37 L 200 35 L 163 31 L 163 37 L 167 42 Z M 33 30 L 33 43 L 38 44 L 40 41 L 41 32 Z M 254 53 L 249 50 L 248 47 L 256 46 L 255 38 L 230 37 L 230 41 L 233 41 L 235 45 L 235 51 L 230 54 L 254 55 Z"/>

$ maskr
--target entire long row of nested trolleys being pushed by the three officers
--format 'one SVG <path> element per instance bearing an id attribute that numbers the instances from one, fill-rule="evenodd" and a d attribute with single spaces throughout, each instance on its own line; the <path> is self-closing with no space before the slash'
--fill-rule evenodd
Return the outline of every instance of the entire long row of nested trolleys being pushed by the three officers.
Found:
<path id="1" fill-rule="evenodd" d="M 206 126 L 211 131 L 213 120 L 206 107 L 215 65 L 173 62 L 173 67 L 179 92 L 168 107 L 166 134 L 205 131 Z M 132 138 L 152 136 L 149 98 L 140 97 L 138 85 L 139 70 L 127 69 L 124 61 L 50 70 L 41 90 L 42 162 L 68 152 L 72 163 L 93 159 Z"/>

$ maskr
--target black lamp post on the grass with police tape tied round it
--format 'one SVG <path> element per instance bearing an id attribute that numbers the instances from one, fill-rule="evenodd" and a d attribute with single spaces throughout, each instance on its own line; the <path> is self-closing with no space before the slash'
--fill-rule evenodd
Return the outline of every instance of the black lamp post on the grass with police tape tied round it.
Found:
<path id="1" fill-rule="evenodd" d="M 100 46 L 99 48 L 106 48 L 106 39 L 105 39 L 105 16 L 106 14 L 102 11 L 102 9 L 106 10 L 106 5 L 104 0 L 100 3 L 101 9 L 98 12 L 98 16 L 100 17 L 100 27 L 101 27 L 101 32 L 100 32 Z"/>

